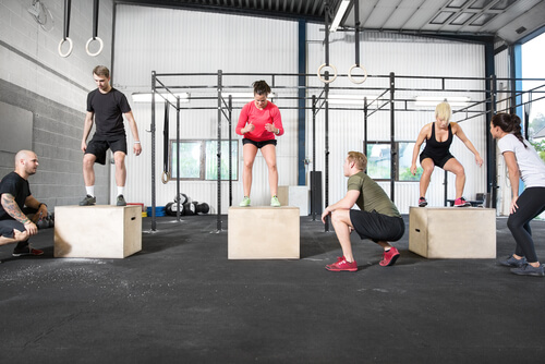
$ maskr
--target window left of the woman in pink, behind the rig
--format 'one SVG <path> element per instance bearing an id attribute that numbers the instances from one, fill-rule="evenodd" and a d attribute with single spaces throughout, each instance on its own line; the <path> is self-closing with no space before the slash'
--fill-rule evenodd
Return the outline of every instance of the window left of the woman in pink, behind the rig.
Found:
<path id="1" fill-rule="evenodd" d="M 180 141 L 180 179 L 216 181 L 218 179 L 218 141 Z M 178 144 L 170 141 L 170 175 L 177 179 Z M 232 180 L 239 179 L 239 141 L 221 141 L 221 180 L 229 180 L 229 151 Z"/>

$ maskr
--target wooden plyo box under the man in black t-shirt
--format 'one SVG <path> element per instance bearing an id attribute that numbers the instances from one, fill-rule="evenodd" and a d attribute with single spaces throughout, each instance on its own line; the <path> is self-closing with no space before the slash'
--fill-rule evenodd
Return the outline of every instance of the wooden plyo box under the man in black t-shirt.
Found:
<path id="1" fill-rule="evenodd" d="M 55 208 L 55 257 L 124 258 L 141 250 L 141 206 Z"/>

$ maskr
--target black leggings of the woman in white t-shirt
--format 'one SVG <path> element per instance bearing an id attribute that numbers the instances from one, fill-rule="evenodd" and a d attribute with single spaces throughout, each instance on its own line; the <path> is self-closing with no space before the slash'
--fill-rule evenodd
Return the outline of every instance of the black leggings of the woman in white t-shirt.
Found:
<path id="1" fill-rule="evenodd" d="M 545 210 L 545 187 L 529 187 L 517 199 L 517 210 L 509 215 L 507 227 L 517 242 L 514 254 L 537 262 L 530 221 Z"/>

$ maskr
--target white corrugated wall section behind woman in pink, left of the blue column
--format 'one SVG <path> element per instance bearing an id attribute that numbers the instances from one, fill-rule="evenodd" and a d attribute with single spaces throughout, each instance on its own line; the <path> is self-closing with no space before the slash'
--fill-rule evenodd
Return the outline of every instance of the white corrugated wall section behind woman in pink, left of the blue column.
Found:
<path id="1" fill-rule="evenodd" d="M 113 85 L 128 96 L 134 92 L 149 92 L 152 71 L 157 73 L 215 73 L 222 70 L 228 73 L 296 73 L 298 72 L 298 23 L 239 15 L 217 14 L 147 7 L 117 5 L 116 11 L 116 54 L 113 65 Z M 245 85 L 251 92 L 251 84 L 258 76 L 225 76 L 223 85 Z M 270 77 L 262 77 L 270 82 Z M 167 78 L 161 78 L 167 80 Z M 169 86 L 217 85 L 218 77 L 199 76 L 191 78 L 168 78 Z M 296 80 L 282 80 L 282 85 L 295 85 Z M 272 87 L 274 88 L 274 87 Z M 199 96 L 215 96 L 215 87 L 198 92 Z M 275 92 L 275 89 L 274 89 Z M 192 95 L 197 95 L 197 92 Z M 250 100 L 249 100 L 250 101 Z M 293 106 L 296 101 L 280 100 L 280 107 Z M 217 138 L 218 113 L 217 100 L 197 102 L 211 110 L 182 110 L 182 139 Z M 130 202 L 152 203 L 152 137 L 149 104 L 131 102 L 135 116 L 143 155 L 129 155 L 128 183 L 125 197 Z M 175 195 L 174 181 L 160 182 L 162 172 L 162 121 L 164 106 L 156 109 L 156 175 L 157 205 L 172 201 Z M 240 113 L 240 106 L 233 110 L 234 126 Z M 298 181 L 298 113 L 296 110 L 282 110 L 286 134 L 278 138 L 277 163 L 279 184 L 296 184 Z M 175 112 L 170 111 L 170 138 L 175 138 Z M 222 138 L 228 138 L 228 123 L 221 121 Z M 129 136 L 132 143 L 132 136 Z M 132 145 L 132 144 L 131 144 Z M 239 144 L 239 175 L 242 173 L 242 145 Z M 257 155 L 253 170 L 252 202 L 265 205 L 270 201 L 267 167 L 261 154 Z M 242 197 L 242 183 L 233 183 L 233 204 Z M 116 194 L 112 183 L 111 194 Z M 217 184 L 215 181 L 184 181 L 181 191 L 195 201 L 206 202 L 217 211 Z M 222 214 L 229 203 L 228 182 L 221 185 Z"/>

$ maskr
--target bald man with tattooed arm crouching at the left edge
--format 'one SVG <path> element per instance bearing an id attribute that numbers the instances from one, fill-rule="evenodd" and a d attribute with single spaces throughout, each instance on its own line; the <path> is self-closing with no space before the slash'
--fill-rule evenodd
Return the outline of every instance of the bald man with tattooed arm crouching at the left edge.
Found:
<path id="1" fill-rule="evenodd" d="M 41 255 L 33 248 L 28 239 L 38 233 L 36 221 L 47 216 L 46 204 L 31 194 L 28 177 L 36 173 L 38 157 L 32 150 L 21 150 L 15 156 L 15 171 L 0 181 L 0 245 L 17 243 L 13 256 Z M 23 214 L 24 206 L 35 209 L 34 221 Z"/>

